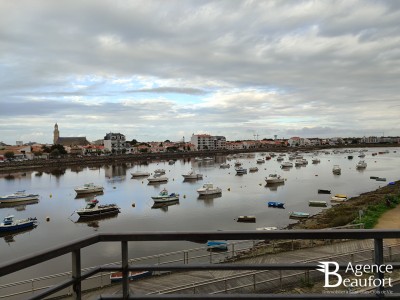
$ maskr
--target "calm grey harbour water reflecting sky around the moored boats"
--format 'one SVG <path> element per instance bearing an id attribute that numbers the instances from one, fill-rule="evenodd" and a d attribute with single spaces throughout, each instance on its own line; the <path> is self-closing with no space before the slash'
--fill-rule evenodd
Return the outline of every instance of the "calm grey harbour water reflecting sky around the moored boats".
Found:
<path id="1" fill-rule="evenodd" d="M 288 218 L 290 211 L 318 213 L 321 208 L 308 207 L 308 200 L 327 200 L 330 195 L 317 193 L 318 188 L 330 189 L 332 194 L 343 193 L 357 196 L 399 180 L 400 148 L 388 148 L 388 154 L 371 156 L 372 152 L 385 148 L 368 149 L 364 160 L 368 167 L 363 171 L 355 168 L 360 160 L 358 152 L 349 160 L 347 153 L 319 154 L 321 162 L 312 164 L 312 153 L 304 153 L 309 164 L 305 167 L 293 167 L 287 171 L 280 168 L 276 157 L 264 164 L 256 164 L 261 157 L 239 158 L 243 167 L 258 166 L 259 171 L 237 176 L 232 166 L 235 159 L 229 161 L 230 169 L 220 169 L 226 156 L 214 157 L 210 162 L 178 160 L 174 165 L 167 162 L 149 162 L 148 165 L 108 165 L 99 168 L 68 168 L 62 172 L 27 172 L 15 174 L 14 178 L 0 177 L 2 195 L 25 189 L 40 194 L 37 204 L 2 207 L 0 216 L 13 214 L 16 218 L 37 217 L 39 225 L 28 232 L 14 237 L 0 238 L 2 261 L 16 259 L 36 251 L 48 249 L 62 243 L 87 237 L 95 232 L 134 232 L 134 231 L 190 231 L 190 230 L 254 230 L 257 227 L 285 227 L 294 222 Z M 396 151 L 396 153 L 394 153 Z M 332 151 L 330 151 L 332 153 Z M 285 158 L 285 161 L 287 157 Z M 341 175 L 332 174 L 332 166 L 342 168 Z M 131 179 L 130 173 L 137 170 L 152 173 L 164 168 L 169 182 L 160 185 L 148 185 L 146 178 Z M 182 174 L 195 169 L 204 175 L 203 180 L 184 182 Z M 269 173 L 278 173 L 287 178 L 284 185 L 267 187 L 264 178 Z M 370 176 L 387 178 L 387 182 L 371 180 Z M 103 185 L 103 195 L 96 196 L 100 203 L 117 203 L 121 213 L 116 217 L 92 222 L 77 222 L 76 209 L 85 206 L 89 199 L 76 198 L 74 187 L 94 182 Z M 222 188 L 222 196 L 214 199 L 199 199 L 196 190 L 205 182 L 213 182 Z M 164 208 L 152 208 L 153 200 L 163 188 L 181 195 L 179 204 Z M 229 191 L 230 189 L 230 191 Z M 183 195 L 185 197 L 183 197 Z M 285 202 L 286 209 L 268 208 L 268 201 Z M 135 207 L 132 204 L 135 204 Z M 237 223 L 239 215 L 255 215 L 257 223 Z M 50 218 L 46 222 L 46 217 Z M 130 244 L 131 245 L 131 244 Z M 136 243 L 130 246 L 130 256 L 140 257 L 183 248 L 198 247 L 191 242 Z M 118 261 L 120 246 L 116 243 L 102 243 L 89 247 L 82 253 L 83 267 L 100 263 Z M 1 278 L 6 283 L 25 278 L 38 277 L 70 270 L 70 256 L 56 259 L 27 270 L 23 276 L 14 274 Z"/>

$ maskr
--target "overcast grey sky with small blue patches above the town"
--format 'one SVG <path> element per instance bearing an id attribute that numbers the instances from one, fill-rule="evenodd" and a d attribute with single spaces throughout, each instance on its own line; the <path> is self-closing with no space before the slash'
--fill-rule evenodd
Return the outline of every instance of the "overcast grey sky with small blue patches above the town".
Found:
<path id="1" fill-rule="evenodd" d="M 400 135 L 399 20 L 396 0 L 0 0 L 0 141 Z"/>

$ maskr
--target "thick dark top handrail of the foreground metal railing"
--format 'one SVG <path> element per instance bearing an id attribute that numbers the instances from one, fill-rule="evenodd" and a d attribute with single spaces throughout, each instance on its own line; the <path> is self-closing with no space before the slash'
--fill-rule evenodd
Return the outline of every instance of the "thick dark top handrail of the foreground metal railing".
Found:
<path id="1" fill-rule="evenodd" d="M 49 259 L 82 249 L 97 242 L 120 241 L 182 241 L 182 240 L 272 240 L 272 239 L 390 239 L 399 238 L 400 230 L 381 229 L 328 229 L 328 230 L 271 230 L 271 231 L 216 231 L 216 232 L 136 232 L 98 233 L 88 238 L 35 253 L 27 257 L 0 264 L 0 277 L 31 267 Z"/>

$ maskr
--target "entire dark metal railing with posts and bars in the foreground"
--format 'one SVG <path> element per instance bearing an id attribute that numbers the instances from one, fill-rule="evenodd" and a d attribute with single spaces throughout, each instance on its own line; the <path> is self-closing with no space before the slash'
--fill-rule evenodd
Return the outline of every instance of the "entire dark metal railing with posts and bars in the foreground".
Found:
<path id="1" fill-rule="evenodd" d="M 75 242 L 67 243 L 47 251 L 36 253 L 25 258 L 3 263 L 0 265 L 0 276 L 23 270 L 33 265 L 46 262 L 50 259 L 71 253 L 72 256 L 72 276 L 70 279 L 56 286 L 49 288 L 31 299 L 43 299 L 54 293 L 72 286 L 73 297 L 81 299 L 82 281 L 99 272 L 121 271 L 122 295 L 102 296 L 102 299 L 179 299 L 181 295 L 129 295 L 129 271 L 187 271 L 187 270 L 315 270 L 317 263 L 294 263 L 294 264 L 181 264 L 181 265 L 129 265 L 128 242 L 134 241 L 183 241 L 183 240 L 292 240 L 292 239 L 373 239 L 374 240 L 374 264 L 383 264 L 383 239 L 396 239 L 400 237 L 400 230 L 277 230 L 277 231 L 217 231 L 217 232 L 139 232 L 132 234 L 96 234 L 88 238 L 80 239 Z M 121 244 L 121 265 L 98 266 L 90 271 L 81 271 L 81 249 L 97 243 L 119 242 Z M 400 268 L 400 264 L 390 262 L 395 269 Z M 347 265 L 341 264 L 343 270 Z M 383 279 L 384 273 L 378 272 L 377 278 Z M 270 299 L 337 299 L 337 298 L 376 298 L 382 295 L 377 294 L 309 294 L 309 295 L 274 295 L 274 294 L 229 294 L 229 295 L 185 295 L 186 299 L 251 299 L 251 298 L 270 298 Z M 400 297 L 399 294 L 388 294 L 385 297 Z"/>

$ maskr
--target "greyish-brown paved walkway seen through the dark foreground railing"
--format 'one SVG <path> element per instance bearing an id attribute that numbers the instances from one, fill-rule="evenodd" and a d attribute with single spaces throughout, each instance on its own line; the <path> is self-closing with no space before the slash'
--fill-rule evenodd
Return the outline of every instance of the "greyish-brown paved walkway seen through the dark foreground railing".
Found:
<path id="1" fill-rule="evenodd" d="M 360 250 L 367 250 L 363 253 L 357 253 Z M 354 262 L 360 260 L 371 261 L 373 256 L 373 241 L 360 240 L 360 241 L 345 241 L 342 243 L 334 243 L 332 245 L 316 246 L 313 248 L 306 248 L 301 250 L 294 250 L 288 252 L 280 252 L 276 254 L 267 254 L 253 258 L 246 258 L 236 261 L 236 263 L 248 264 L 263 264 L 263 263 L 295 263 L 301 261 L 316 262 L 320 260 L 332 260 L 337 262 L 348 263 L 353 260 Z M 396 248 L 400 252 L 400 248 Z M 356 253 L 356 254 L 354 254 Z M 395 253 L 395 251 L 393 251 Z M 224 281 L 224 278 L 240 275 L 245 273 L 252 273 L 245 277 L 237 279 L 229 279 Z M 226 288 L 233 288 L 239 285 L 249 285 L 242 289 L 236 289 L 232 293 L 252 293 L 261 291 L 277 291 L 288 284 L 299 285 L 305 278 L 304 271 L 284 271 L 284 276 L 293 275 L 279 280 L 279 271 L 262 271 L 253 275 L 253 271 L 187 271 L 187 272 L 174 272 L 171 274 L 152 276 L 149 278 L 141 279 L 130 284 L 132 294 L 149 294 L 149 293 L 168 293 L 173 290 L 179 289 L 181 294 L 193 294 L 194 289 L 196 293 L 215 293 L 225 291 Z M 283 273 L 283 272 L 282 272 Z M 297 275 L 296 275 L 297 274 Z M 311 272 L 310 278 L 319 276 L 318 272 Z M 256 282 L 264 281 L 256 285 L 254 288 L 254 276 Z M 271 280 L 276 278 L 276 280 Z M 201 286 L 199 286 L 201 285 Z M 194 286 L 196 286 L 194 288 Z M 83 299 L 92 300 L 98 299 L 99 295 L 112 295 L 120 294 L 121 285 L 113 285 L 103 288 L 102 290 L 84 294 Z"/>

